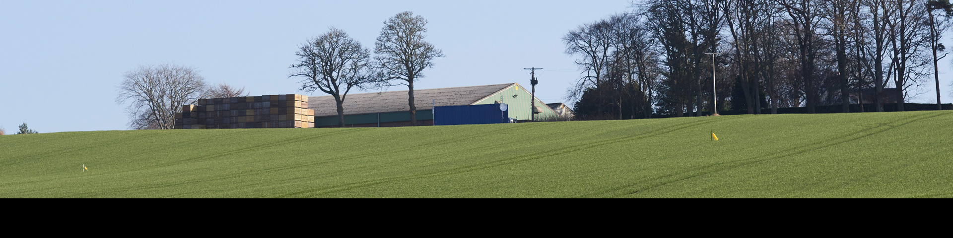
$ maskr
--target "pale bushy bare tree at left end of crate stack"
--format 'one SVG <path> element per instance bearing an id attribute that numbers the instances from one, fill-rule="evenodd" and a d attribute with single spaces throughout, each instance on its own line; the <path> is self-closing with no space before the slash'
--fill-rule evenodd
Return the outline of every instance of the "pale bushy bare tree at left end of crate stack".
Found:
<path id="1" fill-rule="evenodd" d="M 172 129 L 175 111 L 206 90 L 197 69 L 173 64 L 140 66 L 123 77 L 116 103 L 129 103 L 131 129 Z"/>

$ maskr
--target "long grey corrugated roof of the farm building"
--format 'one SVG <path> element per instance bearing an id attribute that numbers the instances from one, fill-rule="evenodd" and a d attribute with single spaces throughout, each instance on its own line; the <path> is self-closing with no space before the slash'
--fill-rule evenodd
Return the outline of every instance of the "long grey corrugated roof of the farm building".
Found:
<path id="1" fill-rule="evenodd" d="M 416 109 L 432 109 L 432 101 L 437 107 L 471 105 L 515 84 L 415 89 L 414 104 Z M 410 110 L 410 106 L 407 105 L 408 97 L 407 90 L 348 94 L 344 99 L 344 114 Z M 315 117 L 337 115 L 335 98 L 332 96 L 308 97 L 308 108 L 314 109 Z"/>

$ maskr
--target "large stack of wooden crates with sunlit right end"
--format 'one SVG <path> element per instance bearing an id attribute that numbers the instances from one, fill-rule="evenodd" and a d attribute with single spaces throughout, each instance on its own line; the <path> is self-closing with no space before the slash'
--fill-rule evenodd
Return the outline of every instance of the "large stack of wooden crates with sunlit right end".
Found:
<path id="1" fill-rule="evenodd" d="M 175 129 L 314 128 L 308 96 L 298 94 L 199 99 L 175 113 Z"/>

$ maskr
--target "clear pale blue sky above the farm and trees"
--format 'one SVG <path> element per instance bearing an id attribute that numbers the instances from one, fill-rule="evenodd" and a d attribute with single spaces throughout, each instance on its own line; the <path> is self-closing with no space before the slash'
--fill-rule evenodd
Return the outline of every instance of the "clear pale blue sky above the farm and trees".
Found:
<path id="1" fill-rule="evenodd" d="M 629 1 L 4 1 L 0 2 L 0 127 L 40 132 L 127 129 L 114 101 L 139 65 L 197 68 L 253 95 L 305 93 L 288 78 L 294 51 L 335 27 L 365 47 L 387 18 L 414 11 L 443 50 L 416 89 L 519 83 L 563 102 L 578 78 L 561 37 L 629 10 Z M 943 68 L 949 64 L 943 62 Z M 944 101 L 949 79 L 942 75 Z M 932 81 L 931 81 L 932 82 Z M 933 102 L 933 84 L 918 102 Z M 390 90 L 405 88 L 393 87 Z M 953 100 L 947 101 L 953 102 Z"/>

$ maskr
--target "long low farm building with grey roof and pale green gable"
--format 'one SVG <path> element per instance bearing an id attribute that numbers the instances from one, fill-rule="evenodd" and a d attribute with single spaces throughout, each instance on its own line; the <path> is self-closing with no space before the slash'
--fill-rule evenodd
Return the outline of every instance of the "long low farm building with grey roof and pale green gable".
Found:
<path id="1" fill-rule="evenodd" d="M 407 90 L 348 94 L 344 100 L 344 124 L 348 128 L 411 126 Z M 519 121 L 530 120 L 532 94 L 517 83 L 457 87 L 444 89 L 415 89 L 417 125 L 434 125 L 434 107 L 465 106 L 504 103 L 509 117 Z M 542 101 L 536 100 L 536 120 L 558 118 L 558 113 Z M 337 126 L 337 106 L 332 96 L 308 98 L 309 109 L 314 109 L 314 127 Z"/>

